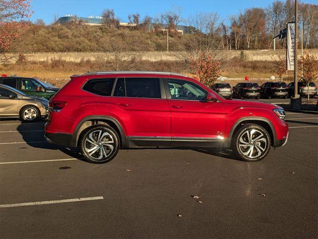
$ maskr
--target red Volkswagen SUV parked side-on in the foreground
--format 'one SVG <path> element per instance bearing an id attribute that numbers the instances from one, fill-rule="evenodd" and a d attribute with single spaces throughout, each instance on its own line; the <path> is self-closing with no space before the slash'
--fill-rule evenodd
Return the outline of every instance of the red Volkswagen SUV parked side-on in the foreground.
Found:
<path id="1" fill-rule="evenodd" d="M 288 137 L 281 107 L 226 100 L 175 73 L 74 75 L 49 109 L 48 141 L 79 146 L 93 163 L 136 146 L 231 147 L 238 158 L 258 161 Z"/>

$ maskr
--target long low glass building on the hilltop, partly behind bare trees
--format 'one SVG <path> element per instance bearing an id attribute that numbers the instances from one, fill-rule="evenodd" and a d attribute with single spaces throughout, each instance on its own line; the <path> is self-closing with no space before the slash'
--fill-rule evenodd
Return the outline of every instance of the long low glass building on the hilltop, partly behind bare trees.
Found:
<path id="1" fill-rule="evenodd" d="M 79 16 L 73 16 L 70 14 L 67 14 L 66 16 L 60 17 L 56 23 L 57 24 L 68 24 L 72 22 L 81 22 L 85 25 L 90 26 L 100 26 L 104 25 L 104 19 L 101 16 L 89 16 L 89 17 L 79 17 Z M 128 28 L 135 26 L 134 23 L 130 22 L 117 22 L 119 28 Z M 157 27 L 157 31 L 166 32 L 168 25 L 167 24 L 161 24 L 161 23 L 141 23 L 141 26 L 145 27 L 149 32 L 155 31 Z M 189 33 L 189 27 L 185 25 L 177 25 L 176 31 L 180 34 L 188 34 Z"/>

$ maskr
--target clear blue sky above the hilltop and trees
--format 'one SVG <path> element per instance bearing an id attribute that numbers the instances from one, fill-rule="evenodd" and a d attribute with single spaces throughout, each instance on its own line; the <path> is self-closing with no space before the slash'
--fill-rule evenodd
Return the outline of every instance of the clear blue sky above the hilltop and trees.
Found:
<path id="1" fill-rule="evenodd" d="M 267 7 L 274 0 L 32 0 L 34 11 L 31 20 L 38 18 L 49 24 L 54 15 L 59 17 L 73 14 L 82 17 L 98 16 L 105 8 L 113 8 L 121 21 L 128 21 L 129 14 L 139 12 L 145 15 L 159 16 L 173 6 L 182 10 L 182 16 L 187 18 L 196 12 L 218 12 L 222 19 L 228 20 L 231 14 L 238 14 L 249 7 Z M 305 0 L 315 3 L 317 0 Z"/>

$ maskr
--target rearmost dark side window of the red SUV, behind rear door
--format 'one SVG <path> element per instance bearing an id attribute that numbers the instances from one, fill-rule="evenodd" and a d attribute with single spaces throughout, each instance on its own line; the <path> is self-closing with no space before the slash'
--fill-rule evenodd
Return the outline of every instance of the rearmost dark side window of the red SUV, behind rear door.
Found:
<path id="1" fill-rule="evenodd" d="M 115 78 L 93 79 L 87 81 L 82 89 L 96 95 L 110 96 L 114 81 Z"/>

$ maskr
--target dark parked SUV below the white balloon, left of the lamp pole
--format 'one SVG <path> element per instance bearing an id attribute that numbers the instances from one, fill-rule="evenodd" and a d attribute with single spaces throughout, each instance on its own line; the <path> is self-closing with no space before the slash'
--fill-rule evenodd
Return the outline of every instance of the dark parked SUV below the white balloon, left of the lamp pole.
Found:
<path id="1" fill-rule="evenodd" d="M 260 95 L 267 99 L 288 98 L 288 86 L 285 82 L 266 82 L 260 87 Z"/>

